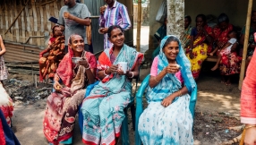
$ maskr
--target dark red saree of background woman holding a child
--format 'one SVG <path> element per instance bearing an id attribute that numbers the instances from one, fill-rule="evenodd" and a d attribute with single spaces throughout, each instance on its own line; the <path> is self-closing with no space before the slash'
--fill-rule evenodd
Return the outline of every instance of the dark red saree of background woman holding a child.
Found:
<path id="1" fill-rule="evenodd" d="M 226 30 L 221 30 L 218 26 L 213 29 L 214 40 L 216 43 L 222 42 L 224 45 L 228 42 L 228 33 L 233 30 L 233 26 L 228 24 Z M 219 52 L 218 52 L 219 53 Z M 240 73 L 241 57 L 236 52 L 221 55 L 219 62 L 219 71 L 222 75 L 231 75 Z"/>

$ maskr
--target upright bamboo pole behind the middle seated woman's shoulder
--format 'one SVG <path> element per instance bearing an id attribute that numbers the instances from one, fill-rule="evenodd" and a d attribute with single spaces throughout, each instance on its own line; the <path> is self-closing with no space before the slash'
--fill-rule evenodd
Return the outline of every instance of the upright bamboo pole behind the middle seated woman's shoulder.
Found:
<path id="1" fill-rule="evenodd" d="M 138 19 L 137 19 L 137 47 L 136 50 L 141 52 L 141 0 L 138 0 Z"/>

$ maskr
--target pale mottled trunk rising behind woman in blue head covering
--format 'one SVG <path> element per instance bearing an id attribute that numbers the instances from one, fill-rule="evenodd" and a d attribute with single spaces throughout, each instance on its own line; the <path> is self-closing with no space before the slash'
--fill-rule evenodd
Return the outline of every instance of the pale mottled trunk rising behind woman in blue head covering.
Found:
<path id="1" fill-rule="evenodd" d="M 184 30 L 184 0 L 167 1 L 167 35 L 180 38 Z"/>

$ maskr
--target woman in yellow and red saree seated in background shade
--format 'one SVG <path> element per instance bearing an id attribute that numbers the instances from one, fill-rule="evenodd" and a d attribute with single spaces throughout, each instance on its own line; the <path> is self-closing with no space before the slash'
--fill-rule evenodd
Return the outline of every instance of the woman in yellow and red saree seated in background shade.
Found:
<path id="1" fill-rule="evenodd" d="M 186 55 L 192 64 L 192 76 L 196 80 L 201 72 L 201 64 L 211 50 L 212 29 L 206 22 L 206 16 L 196 16 L 196 27 L 191 32 L 190 47 L 186 48 Z"/>

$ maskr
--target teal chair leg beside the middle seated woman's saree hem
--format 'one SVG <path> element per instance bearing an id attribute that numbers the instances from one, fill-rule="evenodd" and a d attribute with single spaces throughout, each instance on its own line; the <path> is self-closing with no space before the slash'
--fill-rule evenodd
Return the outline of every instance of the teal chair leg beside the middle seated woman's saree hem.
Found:
<path id="1" fill-rule="evenodd" d="M 130 145 L 129 141 L 129 130 L 128 130 L 128 115 L 127 115 L 127 109 L 124 108 L 124 121 L 122 123 L 122 130 L 121 130 L 121 135 L 122 135 L 122 144 L 123 145 Z"/>

